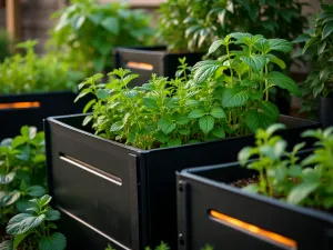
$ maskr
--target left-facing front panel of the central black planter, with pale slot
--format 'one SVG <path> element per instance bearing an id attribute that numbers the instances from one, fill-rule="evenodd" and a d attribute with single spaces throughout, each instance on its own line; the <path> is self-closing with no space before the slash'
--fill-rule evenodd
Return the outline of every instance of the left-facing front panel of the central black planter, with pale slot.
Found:
<path id="1" fill-rule="evenodd" d="M 49 169 L 54 204 L 132 248 L 131 223 L 138 219 L 129 214 L 138 204 L 132 199 L 137 190 L 131 174 L 137 174 L 129 167 L 129 154 L 137 153 L 57 123 L 49 131 L 52 166 L 57 166 Z"/>

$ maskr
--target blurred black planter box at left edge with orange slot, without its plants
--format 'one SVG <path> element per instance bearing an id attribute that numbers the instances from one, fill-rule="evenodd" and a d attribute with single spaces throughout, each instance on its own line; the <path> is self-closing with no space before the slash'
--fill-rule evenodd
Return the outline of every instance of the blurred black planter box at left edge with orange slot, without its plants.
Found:
<path id="1" fill-rule="evenodd" d="M 42 119 L 81 112 L 84 102 L 74 103 L 70 91 L 24 94 L 0 94 L 0 140 L 18 136 L 24 124 L 43 129 Z"/>

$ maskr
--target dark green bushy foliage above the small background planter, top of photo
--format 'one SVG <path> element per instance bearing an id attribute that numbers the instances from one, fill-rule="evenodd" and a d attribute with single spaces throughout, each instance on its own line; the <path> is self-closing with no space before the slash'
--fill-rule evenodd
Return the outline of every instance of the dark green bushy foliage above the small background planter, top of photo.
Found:
<path id="1" fill-rule="evenodd" d="M 205 51 L 234 31 L 293 40 L 307 26 L 303 6 L 294 0 L 169 0 L 160 8 L 159 36 L 176 51 Z"/>

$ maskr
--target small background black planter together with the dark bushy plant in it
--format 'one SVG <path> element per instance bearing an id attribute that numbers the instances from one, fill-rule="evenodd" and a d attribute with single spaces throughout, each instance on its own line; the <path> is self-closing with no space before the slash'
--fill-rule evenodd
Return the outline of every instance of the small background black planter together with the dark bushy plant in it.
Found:
<path id="1" fill-rule="evenodd" d="M 193 66 L 201 60 L 203 52 L 208 51 L 214 40 L 230 32 L 261 33 L 266 38 L 283 37 L 293 40 L 303 32 L 307 23 L 302 16 L 302 7 L 303 3 L 293 0 L 283 3 L 169 0 L 159 9 L 157 29 L 158 38 L 167 47 L 115 49 L 114 66 L 139 73 L 141 77 L 135 81 L 138 84 L 148 82 L 152 72 L 173 78 L 179 58 L 186 57 L 189 66 Z M 222 49 L 213 57 L 218 58 L 224 52 Z M 283 59 L 289 69 L 290 57 L 285 56 Z M 274 97 L 275 94 L 271 96 L 272 100 L 279 102 L 280 98 Z M 285 101 L 281 102 L 282 108 L 287 107 Z M 287 113 L 287 108 L 283 113 Z"/>

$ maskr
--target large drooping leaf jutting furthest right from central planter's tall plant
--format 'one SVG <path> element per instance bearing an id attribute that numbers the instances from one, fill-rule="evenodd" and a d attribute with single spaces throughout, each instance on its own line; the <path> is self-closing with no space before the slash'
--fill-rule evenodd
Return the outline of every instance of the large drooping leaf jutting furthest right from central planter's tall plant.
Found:
<path id="1" fill-rule="evenodd" d="M 291 93 L 295 94 L 296 97 L 302 96 L 302 92 L 301 92 L 297 83 L 293 79 L 286 77 L 285 74 L 283 74 L 281 72 L 272 71 L 269 74 L 268 81 L 269 81 L 269 84 L 275 84 L 282 89 L 286 89 Z"/>

